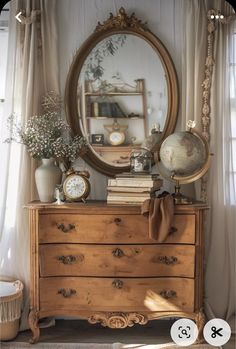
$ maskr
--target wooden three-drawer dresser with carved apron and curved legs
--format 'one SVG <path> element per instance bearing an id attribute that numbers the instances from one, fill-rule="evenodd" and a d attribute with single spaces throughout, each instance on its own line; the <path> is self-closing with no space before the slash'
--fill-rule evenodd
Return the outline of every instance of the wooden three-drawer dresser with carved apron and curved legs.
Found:
<path id="1" fill-rule="evenodd" d="M 38 320 L 47 316 L 78 316 L 111 328 L 187 317 L 201 334 L 206 205 L 176 205 L 161 244 L 148 237 L 148 218 L 139 206 L 27 207 L 32 343 L 39 339 Z"/>

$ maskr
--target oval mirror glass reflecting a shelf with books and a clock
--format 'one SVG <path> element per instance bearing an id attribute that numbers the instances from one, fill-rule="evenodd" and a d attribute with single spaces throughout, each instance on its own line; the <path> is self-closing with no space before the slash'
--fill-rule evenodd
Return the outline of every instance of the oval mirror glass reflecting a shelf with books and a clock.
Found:
<path id="1" fill-rule="evenodd" d="M 114 34 L 92 49 L 81 70 L 78 96 L 82 132 L 108 163 L 128 165 L 132 147 L 141 146 L 152 129 L 164 128 L 165 71 L 150 44 L 135 35 Z M 94 143 L 98 137 L 102 143 Z M 109 148 L 121 145 L 118 151 Z"/>

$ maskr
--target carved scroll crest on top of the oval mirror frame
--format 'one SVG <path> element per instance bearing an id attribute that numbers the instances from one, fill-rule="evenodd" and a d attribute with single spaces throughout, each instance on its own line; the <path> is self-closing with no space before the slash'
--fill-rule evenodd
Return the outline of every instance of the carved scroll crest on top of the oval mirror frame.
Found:
<path id="1" fill-rule="evenodd" d="M 147 30 L 147 23 L 142 23 L 140 19 L 135 17 L 135 14 L 132 13 L 131 16 L 128 16 L 123 7 L 119 9 L 117 16 L 113 16 L 110 13 L 110 17 L 101 24 L 98 22 L 98 25 L 95 29 L 95 32 L 101 32 L 103 30 L 112 29 L 112 28 L 134 28 L 141 31 Z"/>

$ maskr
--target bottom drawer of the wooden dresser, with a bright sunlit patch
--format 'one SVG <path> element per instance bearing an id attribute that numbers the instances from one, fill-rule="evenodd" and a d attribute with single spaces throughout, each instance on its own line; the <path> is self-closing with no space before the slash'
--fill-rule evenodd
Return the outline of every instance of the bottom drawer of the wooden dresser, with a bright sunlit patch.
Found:
<path id="1" fill-rule="evenodd" d="M 187 278 L 57 277 L 40 279 L 39 286 L 41 311 L 147 312 L 148 290 L 158 297 L 159 311 L 194 311 L 194 280 Z"/>

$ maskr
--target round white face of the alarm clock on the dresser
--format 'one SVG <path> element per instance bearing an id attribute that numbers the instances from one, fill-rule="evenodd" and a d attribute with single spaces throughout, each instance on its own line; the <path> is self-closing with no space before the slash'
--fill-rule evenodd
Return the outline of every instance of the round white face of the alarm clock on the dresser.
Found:
<path id="1" fill-rule="evenodd" d="M 66 178 L 63 189 L 69 199 L 79 199 L 85 195 L 88 186 L 86 180 L 79 175 L 70 175 Z"/>

